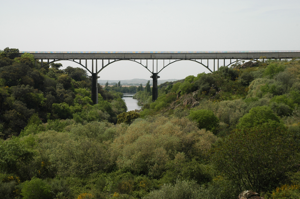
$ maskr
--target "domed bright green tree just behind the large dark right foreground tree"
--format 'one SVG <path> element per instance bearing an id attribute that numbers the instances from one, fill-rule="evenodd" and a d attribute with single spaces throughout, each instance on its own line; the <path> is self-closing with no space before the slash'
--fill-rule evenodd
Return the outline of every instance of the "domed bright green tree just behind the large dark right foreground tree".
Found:
<path id="1" fill-rule="evenodd" d="M 251 128 L 253 126 L 261 125 L 271 121 L 274 121 L 276 123 L 280 122 L 279 117 L 273 113 L 270 107 L 257 106 L 251 108 L 249 113 L 241 117 L 236 127 L 238 129 Z"/>

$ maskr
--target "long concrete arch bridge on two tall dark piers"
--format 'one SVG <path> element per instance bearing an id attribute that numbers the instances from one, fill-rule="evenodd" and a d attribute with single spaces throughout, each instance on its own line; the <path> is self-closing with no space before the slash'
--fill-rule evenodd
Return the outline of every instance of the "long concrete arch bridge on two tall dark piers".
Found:
<path id="1" fill-rule="evenodd" d="M 153 79 L 152 100 L 158 97 L 157 79 L 160 78 L 160 73 L 164 68 L 177 61 L 193 61 L 203 67 L 207 68 L 211 73 L 219 70 L 220 64 L 222 66 L 229 66 L 241 60 L 258 59 L 291 59 L 300 58 L 300 50 L 289 51 L 145 51 L 145 52 L 85 52 L 85 51 L 20 51 L 19 56 L 24 53 L 31 53 L 35 58 L 35 65 L 37 60 L 41 60 L 41 67 L 44 67 L 44 60 L 47 64 L 56 61 L 69 60 L 84 67 L 92 77 L 91 98 L 94 104 L 98 103 L 98 73 L 105 67 L 117 61 L 129 60 L 142 65 L 146 70 L 152 73 Z M 87 60 L 92 60 L 91 70 L 88 69 Z M 158 60 L 163 60 L 161 70 L 158 70 Z M 208 66 L 208 60 L 214 60 L 213 66 Z M 227 63 L 225 64 L 225 60 Z M 98 61 L 100 66 L 98 67 Z M 94 64 L 95 62 L 95 64 Z M 149 63 L 148 63 L 149 62 Z M 156 63 L 155 63 L 156 62 Z M 155 70 L 156 67 L 156 70 Z M 151 70 L 152 69 L 152 70 Z"/>

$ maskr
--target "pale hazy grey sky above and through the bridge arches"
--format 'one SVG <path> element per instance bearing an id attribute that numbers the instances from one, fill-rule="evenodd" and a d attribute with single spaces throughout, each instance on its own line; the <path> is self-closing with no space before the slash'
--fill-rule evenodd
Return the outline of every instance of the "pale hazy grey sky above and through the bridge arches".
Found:
<path id="1" fill-rule="evenodd" d="M 2 50 L 300 50 L 299 0 L 0 0 L 0 17 Z M 202 72 L 209 71 L 179 61 L 159 76 L 183 79 Z M 151 73 L 137 63 L 119 61 L 99 76 L 150 79 Z"/>

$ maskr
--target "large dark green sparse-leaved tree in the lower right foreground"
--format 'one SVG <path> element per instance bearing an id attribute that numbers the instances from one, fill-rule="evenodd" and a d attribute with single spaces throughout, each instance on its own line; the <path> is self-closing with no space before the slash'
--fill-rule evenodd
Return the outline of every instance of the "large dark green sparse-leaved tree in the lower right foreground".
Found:
<path id="1" fill-rule="evenodd" d="M 240 191 L 271 191 L 295 170 L 297 148 L 286 127 L 270 123 L 237 129 L 213 150 L 215 167 Z"/>

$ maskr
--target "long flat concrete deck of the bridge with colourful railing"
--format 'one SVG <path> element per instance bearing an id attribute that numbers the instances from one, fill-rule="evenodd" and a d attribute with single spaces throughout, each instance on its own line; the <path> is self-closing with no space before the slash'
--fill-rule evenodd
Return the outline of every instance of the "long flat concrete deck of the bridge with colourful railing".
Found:
<path id="1" fill-rule="evenodd" d="M 55 52 L 21 51 L 35 59 L 288 59 L 300 57 L 300 50 L 290 51 L 145 51 L 145 52 Z"/>

